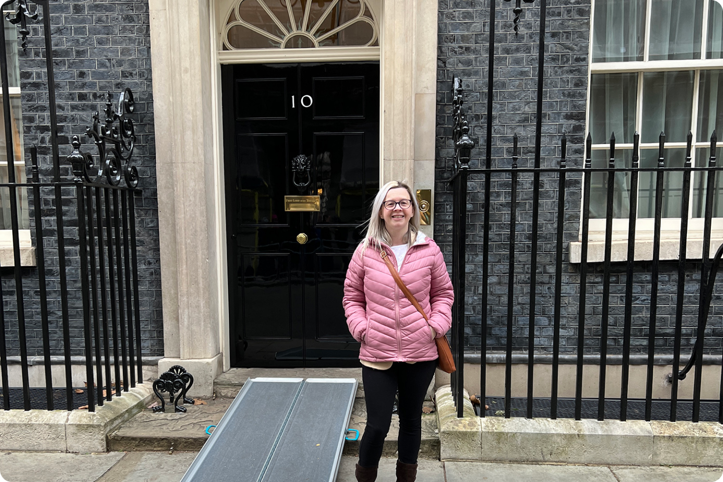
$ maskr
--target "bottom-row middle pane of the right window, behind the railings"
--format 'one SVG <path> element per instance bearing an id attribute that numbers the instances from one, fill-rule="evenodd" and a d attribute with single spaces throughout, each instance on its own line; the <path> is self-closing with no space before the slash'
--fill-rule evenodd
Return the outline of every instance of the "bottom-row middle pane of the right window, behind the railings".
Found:
<path id="1" fill-rule="evenodd" d="M 685 149 L 666 149 L 663 165 L 667 168 L 682 168 L 685 164 Z M 657 149 L 641 149 L 641 168 L 658 165 Z M 657 174 L 641 172 L 638 178 L 638 218 L 655 218 L 655 193 Z M 663 176 L 663 218 L 680 218 L 680 202 L 683 196 L 683 173 L 668 172 Z"/>

